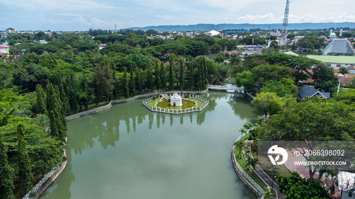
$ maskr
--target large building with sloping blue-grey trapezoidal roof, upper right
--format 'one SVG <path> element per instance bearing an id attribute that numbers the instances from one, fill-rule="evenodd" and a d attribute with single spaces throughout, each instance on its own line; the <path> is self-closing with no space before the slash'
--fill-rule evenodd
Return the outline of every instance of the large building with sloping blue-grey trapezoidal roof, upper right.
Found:
<path id="1" fill-rule="evenodd" d="M 323 49 L 323 53 L 342 53 L 344 55 L 354 55 L 355 51 L 352 45 L 347 39 L 333 39 L 332 42 Z"/>

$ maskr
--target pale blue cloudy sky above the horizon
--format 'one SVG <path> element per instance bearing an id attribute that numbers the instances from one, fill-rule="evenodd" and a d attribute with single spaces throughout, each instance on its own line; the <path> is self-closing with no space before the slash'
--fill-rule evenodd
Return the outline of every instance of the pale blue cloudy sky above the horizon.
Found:
<path id="1" fill-rule="evenodd" d="M 289 23 L 355 22 L 354 0 L 293 0 Z M 0 30 L 282 23 L 286 0 L 0 0 Z"/>

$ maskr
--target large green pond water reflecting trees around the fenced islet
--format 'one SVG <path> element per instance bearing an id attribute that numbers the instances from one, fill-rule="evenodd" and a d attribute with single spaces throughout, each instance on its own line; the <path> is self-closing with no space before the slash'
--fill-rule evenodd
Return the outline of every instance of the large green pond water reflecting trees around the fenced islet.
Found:
<path id="1" fill-rule="evenodd" d="M 257 198 L 231 150 L 242 124 L 263 112 L 234 93 L 201 96 L 201 112 L 152 112 L 141 99 L 69 121 L 67 165 L 41 199 Z"/>

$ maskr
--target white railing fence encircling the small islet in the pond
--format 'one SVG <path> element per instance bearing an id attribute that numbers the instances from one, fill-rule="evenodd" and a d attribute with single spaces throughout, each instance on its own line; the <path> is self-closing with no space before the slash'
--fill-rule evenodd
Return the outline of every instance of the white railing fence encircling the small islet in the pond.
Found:
<path id="1" fill-rule="evenodd" d="M 183 96 L 182 94 L 179 94 L 179 95 Z M 170 96 L 171 96 L 171 94 L 170 94 Z M 162 97 L 162 95 L 159 95 L 159 97 Z M 196 111 L 201 111 L 202 109 L 204 109 L 208 105 L 208 100 L 206 100 L 198 95 L 189 94 L 189 97 L 198 98 L 200 101 L 204 102 L 204 104 L 199 107 L 192 107 L 189 109 L 180 109 L 180 110 L 163 109 L 160 107 L 150 106 L 148 104 L 148 102 L 153 100 L 153 97 L 151 97 L 148 100 L 143 101 L 143 105 L 146 106 L 151 111 L 161 112 L 161 113 L 171 113 L 171 114 L 183 114 L 183 113 L 192 113 L 192 112 L 196 112 Z"/>

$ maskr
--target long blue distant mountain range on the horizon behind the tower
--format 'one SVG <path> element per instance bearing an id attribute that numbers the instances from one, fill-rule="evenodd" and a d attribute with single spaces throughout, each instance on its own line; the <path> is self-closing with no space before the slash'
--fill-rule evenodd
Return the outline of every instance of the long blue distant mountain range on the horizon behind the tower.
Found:
<path id="1" fill-rule="evenodd" d="M 163 25 L 163 26 L 147 26 L 147 27 L 133 27 L 134 30 L 148 30 L 153 29 L 157 31 L 209 31 L 213 28 L 215 30 L 227 30 L 227 29 L 253 29 L 260 28 L 268 30 L 282 29 L 282 24 L 196 24 L 196 25 Z M 289 23 L 289 30 L 297 29 L 323 29 L 323 28 L 337 28 L 337 27 L 350 27 L 355 28 L 353 22 L 342 23 Z"/>

